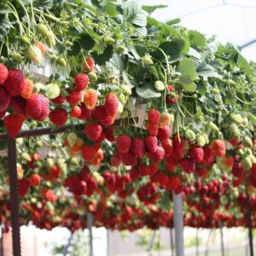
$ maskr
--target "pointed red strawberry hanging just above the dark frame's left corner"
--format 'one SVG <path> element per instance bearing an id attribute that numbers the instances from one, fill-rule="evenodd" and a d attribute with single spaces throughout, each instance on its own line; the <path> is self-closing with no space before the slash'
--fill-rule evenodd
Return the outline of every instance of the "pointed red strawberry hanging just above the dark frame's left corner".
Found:
<path id="1" fill-rule="evenodd" d="M 10 137 L 17 136 L 24 120 L 24 117 L 18 114 L 9 114 L 3 119 L 3 126 L 8 131 Z"/>

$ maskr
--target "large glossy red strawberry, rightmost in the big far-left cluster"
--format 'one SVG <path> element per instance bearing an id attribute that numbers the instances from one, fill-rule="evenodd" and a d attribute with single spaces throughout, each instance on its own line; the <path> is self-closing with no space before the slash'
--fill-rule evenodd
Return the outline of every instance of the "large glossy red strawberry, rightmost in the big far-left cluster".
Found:
<path id="1" fill-rule="evenodd" d="M 44 121 L 49 116 L 49 99 L 40 94 L 33 94 L 26 101 L 26 115 L 37 121 Z"/>

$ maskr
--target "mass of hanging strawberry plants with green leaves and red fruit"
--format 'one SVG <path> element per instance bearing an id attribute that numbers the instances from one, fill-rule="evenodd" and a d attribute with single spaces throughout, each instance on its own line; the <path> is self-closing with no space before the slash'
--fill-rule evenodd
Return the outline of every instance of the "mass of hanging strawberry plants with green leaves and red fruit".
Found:
<path id="1" fill-rule="evenodd" d="M 16 140 L 24 224 L 76 230 L 90 211 L 112 229 L 169 226 L 172 191 L 183 193 L 185 224 L 246 224 L 239 206 L 246 189 L 255 203 L 255 63 L 179 20 L 151 17 L 164 7 L 0 3 L 0 131 L 73 127 Z"/>

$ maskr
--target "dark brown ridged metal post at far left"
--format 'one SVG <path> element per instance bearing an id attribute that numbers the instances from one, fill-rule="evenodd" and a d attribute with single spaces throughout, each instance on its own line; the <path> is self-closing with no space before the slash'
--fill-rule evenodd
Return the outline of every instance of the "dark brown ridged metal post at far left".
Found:
<path id="1" fill-rule="evenodd" d="M 19 192 L 17 178 L 17 148 L 15 139 L 9 139 L 8 141 L 8 159 L 13 255 L 21 256 Z"/>

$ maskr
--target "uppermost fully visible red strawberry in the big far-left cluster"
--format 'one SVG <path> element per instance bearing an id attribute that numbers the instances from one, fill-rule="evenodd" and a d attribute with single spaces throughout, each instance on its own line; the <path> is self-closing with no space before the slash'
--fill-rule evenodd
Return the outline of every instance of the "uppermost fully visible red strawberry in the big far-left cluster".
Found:
<path id="1" fill-rule="evenodd" d="M 26 87 L 26 79 L 20 69 L 9 69 L 8 78 L 3 84 L 11 96 L 20 95 L 22 90 Z"/>

